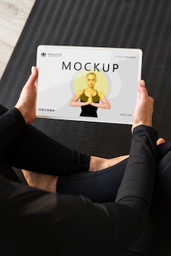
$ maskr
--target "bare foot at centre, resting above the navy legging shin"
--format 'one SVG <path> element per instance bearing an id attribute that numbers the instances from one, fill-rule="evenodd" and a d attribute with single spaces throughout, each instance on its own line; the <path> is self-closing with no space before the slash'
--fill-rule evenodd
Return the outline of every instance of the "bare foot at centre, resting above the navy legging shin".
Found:
<path id="1" fill-rule="evenodd" d="M 91 156 L 90 158 L 90 164 L 89 164 L 89 171 L 97 171 L 97 170 L 103 170 L 106 169 L 108 167 L 111 167 L 115 164 L 120 163 L 121 161 L 123 161 L 124 159 L 128 158 L 129 155 L 122 155 L 120 157 L 117 158 L 98 158 L 95 156 Z"/>

